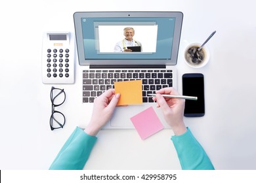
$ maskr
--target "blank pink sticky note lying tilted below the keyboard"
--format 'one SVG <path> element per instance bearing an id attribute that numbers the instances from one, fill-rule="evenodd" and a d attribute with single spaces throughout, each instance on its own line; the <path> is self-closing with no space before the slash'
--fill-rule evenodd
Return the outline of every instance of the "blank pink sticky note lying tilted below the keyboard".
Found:
<path id="1" fill-rule="evenodd" d="M 142 140 L 163 129 L 163 124 L 161 124 L 153 107 L 149 107 L 139 114 L 131 117 L 131 121 Z"/>

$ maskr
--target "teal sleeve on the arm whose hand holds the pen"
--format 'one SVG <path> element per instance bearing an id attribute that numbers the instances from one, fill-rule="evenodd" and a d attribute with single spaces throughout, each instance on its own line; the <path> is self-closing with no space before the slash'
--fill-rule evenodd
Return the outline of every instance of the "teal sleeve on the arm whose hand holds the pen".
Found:
<path id="1" fill-rule="evenodd" d="M 190 129 L 184 134 L 171 137 L 183 170 L 214 170 L 211 160 Z"/>

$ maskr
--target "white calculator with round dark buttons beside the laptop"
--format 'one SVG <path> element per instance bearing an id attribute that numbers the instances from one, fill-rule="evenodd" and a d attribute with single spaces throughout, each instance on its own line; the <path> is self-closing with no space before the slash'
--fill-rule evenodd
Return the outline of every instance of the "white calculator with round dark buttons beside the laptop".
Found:
<path id="1" fill-rule="evenodd" d="M 74 76 L 74 34 L 45 32 L 42 50 L 42 81 L 44 84 L 72 84 Z"/>

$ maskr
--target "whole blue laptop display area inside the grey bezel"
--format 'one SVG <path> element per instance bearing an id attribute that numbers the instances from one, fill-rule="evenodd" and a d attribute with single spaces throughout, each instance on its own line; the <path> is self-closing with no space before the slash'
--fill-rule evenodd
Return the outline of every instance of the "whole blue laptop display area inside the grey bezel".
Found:
<path id="1" fill-rule="evenodd" d="M 83 51 L 87 60 L 163 59 L 171 60 L 175 18 L 173 17 L 89 17 L 81 18 Z M 135 33 L 131 50 L 125 41 L 124 28 Z M 116 50 L 119 44 L 119 50 Z M 140 50 L 135 47 L 140 46 Z"/>

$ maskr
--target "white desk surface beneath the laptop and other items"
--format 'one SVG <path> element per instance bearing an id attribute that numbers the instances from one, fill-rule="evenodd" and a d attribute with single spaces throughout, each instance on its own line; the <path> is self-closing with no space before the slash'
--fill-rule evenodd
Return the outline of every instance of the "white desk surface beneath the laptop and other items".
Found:
<path id="1" fill-rule="evenodd" d="M 146 6 L 144 6 L 146 3 Z M 75 84 L 64 88 L 59 110 L 64 129 L 51 131 L 51 84 L 41 82 L 43 31 L 74 32 L 76 11 L 181 11 L 184 13 L 178 58 L 178 86 L 184 73 L 205 76 L 202 118 L 185 118 L 216 169 L 256 169 L 256 11 L 240 1 L 13 1 L 0 7 L 0 169 L 48 169 L 77 124 L 87 123 L 91 107 L 83 105 L 82 70 L 75 61 Z M 13 10 L 13 6 L 25 7 Z M 27 7 L 27 5 L 30 5 Z M 209 63 L 192 69 L 182 54 L 190 42 L 207 43 Z M 164 129 L 140 140 L 135 129 L 102 130 L 85 169 L 181 169 Z"/>

